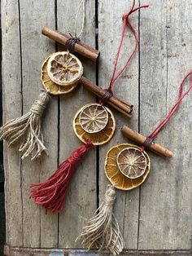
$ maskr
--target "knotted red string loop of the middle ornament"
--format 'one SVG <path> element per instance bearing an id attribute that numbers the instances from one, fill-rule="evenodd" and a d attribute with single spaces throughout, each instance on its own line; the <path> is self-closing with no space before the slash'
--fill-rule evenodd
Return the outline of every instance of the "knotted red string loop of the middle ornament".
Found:
<path id="1" fill-rule="evenodd" d="M 115 59 L 115 64 L 113 67 L 113 71 L 112 71 L 112 76 L 111 76 L 111 81 L 109 83 L 109 87 L 107 90 L 109 90 L 112 93 L 112 87 L 114 85 L 114 83 L 116 82 L 116 79 L 118 79 L 122 73 L 124 73 L 124 69 L 127 68 L 129 61 L 131 60 L 132 56 L 134 55 L 135 51 L 137 50 L 137 45 L 138 45 L 138 36 L 137 36 L 137 32 L 136 30 L 133 28 L 133 25 L 130 23 L 129 20 L 129 15 L 131 15 L 133 12 L 142 9 L 142 8 L 147 8 L 149 7 L 148 5 L 142 6 L 142 7 L 135 7 L 135 0 L 133 0 L 133 6 L 131 7 L 130 11 L 126 14 L 123 15 L 122 20 L 123 20 L 123 30 L 122 30 L 122 34 L 121 34 L 121 38 L 120 38 L 120 46 L 118 47 L 117 53 L 116 53 L 116 59 Z M 120 50 L 121 50 L 121 46 L 123 44 L 124 41 L 124 33 L 125 33 L 125 29 L 126 26 L 129 26 L 129 28 L 131 29 L 133 36 L 135 38 L 135 43 L 133 46 L 133 50 L 129 55 L 128 60 L 126 61 L 126 63 L 124 64 L 124 67 L 120 69 L 120 71 L 116 74 L 116 66 L 118 64 L 118 60 L 119 60 L 119 56 L 120 56 Z"/>

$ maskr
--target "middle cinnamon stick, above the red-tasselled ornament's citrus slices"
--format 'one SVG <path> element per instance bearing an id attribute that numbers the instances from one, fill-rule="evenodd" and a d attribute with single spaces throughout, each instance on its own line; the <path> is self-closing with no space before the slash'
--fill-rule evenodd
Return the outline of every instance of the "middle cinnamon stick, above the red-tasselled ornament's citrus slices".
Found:
<path id="1" fill-rule="evenodd" d="M 85 77 L 81 77 L 80 83 L 87 90 L 93 92 L 94 95 L 97 95 L 99 98 L 102 98 L 105 94 L 105 90 L 94 85 L 89 81 L 89 79 Z M 116 108 L 116 110 L 122 113 L 125 117 L 131 117 L 133 105 L 129 104 L 129 102 L 125 102 L 119 98 L 116 98 L 115 96 L 111 96 L 111 98 L 107 100 L 107 104 L 110 104 L 113 108 Z"/>

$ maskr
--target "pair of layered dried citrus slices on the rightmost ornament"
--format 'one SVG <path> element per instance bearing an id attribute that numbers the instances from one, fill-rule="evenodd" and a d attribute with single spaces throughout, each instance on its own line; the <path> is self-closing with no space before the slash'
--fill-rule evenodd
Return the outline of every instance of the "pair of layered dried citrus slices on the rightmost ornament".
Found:
<path id="1" fill-rule="evenodd" d="M 145 181 L 150 169 L 148 154 L 133 144 L 122 143 L 107 152 L 105 174 L 118 189 L 137 188 Z"/>

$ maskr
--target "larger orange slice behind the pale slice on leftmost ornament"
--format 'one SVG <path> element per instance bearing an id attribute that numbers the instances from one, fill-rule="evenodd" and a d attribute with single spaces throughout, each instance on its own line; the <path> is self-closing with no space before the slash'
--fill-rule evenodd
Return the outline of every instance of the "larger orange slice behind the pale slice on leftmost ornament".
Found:
<path id="1" fill-rule="evenodd" d="M 47 63 L 48 63 L 48 60 L 50 59 L 50 56 L 48 56 L 48 58 L 41 65 L 42 85 L 44 86 L 46 91 L 48 91 L 52 95 L 63 95 L 63 94 L 67 94 L 67 93 L 71 92 L 72 90 L 74 90 L 76 88 L 76 86 L 78 85 L 78 82 L 76 82 L 73 85 L 69 85 L 69 86 L 59 86 L 58 84 L 56 84 L 55 82 L 53 82 L 50 79 L 48 72 L 47 72 Z"/>

